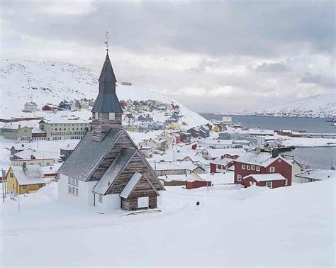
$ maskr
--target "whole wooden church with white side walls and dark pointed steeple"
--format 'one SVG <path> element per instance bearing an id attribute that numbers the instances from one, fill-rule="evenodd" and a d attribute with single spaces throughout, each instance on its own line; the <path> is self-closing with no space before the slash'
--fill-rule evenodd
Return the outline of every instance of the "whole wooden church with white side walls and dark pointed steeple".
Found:
<path id="1" fill-rule="evenodd" d="M 108 52 L 92 108 L 92 128 L 58 171 L 58 199 L 99 211 L 162 204 L 164 187 L 121 125 L 123 110 Z"/>

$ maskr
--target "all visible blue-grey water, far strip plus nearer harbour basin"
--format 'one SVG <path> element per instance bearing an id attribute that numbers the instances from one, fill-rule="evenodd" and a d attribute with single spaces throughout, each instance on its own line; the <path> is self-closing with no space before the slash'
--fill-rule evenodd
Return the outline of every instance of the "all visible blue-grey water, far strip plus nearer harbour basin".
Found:
<path id="1" fill-rule="evenodd" d="M 225 115 L 213 113 L 200 113 L 204 118 L 222 120 Z M 231 116 L 231 115 L 227 115 Z M 288 118 L 288 117 L 264 117 L 264 116 L 231 116 L 233 121 L 240 122 L 245 128 L 263 129 L 291 129 L 306 131 L 309 133 L 336 133 L 336 127 L 326 118 Z M 336 161 L 336 147 L 297 147 L 286 155 L 293 155 L 300 162 L 310 167 L 330 169 L 332 162 Z"/>

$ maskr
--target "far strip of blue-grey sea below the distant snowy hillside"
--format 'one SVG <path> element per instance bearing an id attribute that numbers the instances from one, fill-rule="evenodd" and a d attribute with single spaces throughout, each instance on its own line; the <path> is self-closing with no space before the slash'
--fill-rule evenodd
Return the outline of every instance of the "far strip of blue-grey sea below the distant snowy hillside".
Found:
<path id="1" fill-rule="evenodd" d="M 211 120 L 222 120 L 223 115 L 214 113 L 200 113 L 204 118 Z M 230 116 L 230 115 L 225 115 Z M 295 118 L 295 117 L 264 117 L 264 116 L 231 116 L 233 121 L 240 122 L 245 128 L 263 129 L 290 129 L 306 130 L 310 133 L 336 133 L 336 127 L 326 118 Z"/>

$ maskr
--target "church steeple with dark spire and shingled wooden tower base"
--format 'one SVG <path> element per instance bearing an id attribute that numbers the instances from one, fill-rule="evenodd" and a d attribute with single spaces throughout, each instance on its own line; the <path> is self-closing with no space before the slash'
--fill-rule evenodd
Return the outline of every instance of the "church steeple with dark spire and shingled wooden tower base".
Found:
<path id="1" fill-rule="evenodd" d="M 92 140 L 101 141 L 111 128 L 122 128 L 123 109 L 116 95 L 116 75 L 106 53 L 99 77 L 99 94 L 92 108 Z"/>

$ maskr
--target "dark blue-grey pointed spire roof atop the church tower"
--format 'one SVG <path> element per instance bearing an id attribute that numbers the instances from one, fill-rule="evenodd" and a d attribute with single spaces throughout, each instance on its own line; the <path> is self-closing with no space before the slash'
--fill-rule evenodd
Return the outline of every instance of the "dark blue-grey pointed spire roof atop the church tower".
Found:
<path id="1" fill-rule="evenodd" d="M 99 94 L 94 102 L 92 112 L 123 113 L 118 96 L 116 95 L 116 76 L 114 75 L 110 58 L 106 54 L 103 69 L 99 77 Z"/>

